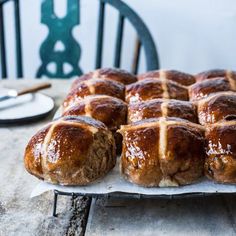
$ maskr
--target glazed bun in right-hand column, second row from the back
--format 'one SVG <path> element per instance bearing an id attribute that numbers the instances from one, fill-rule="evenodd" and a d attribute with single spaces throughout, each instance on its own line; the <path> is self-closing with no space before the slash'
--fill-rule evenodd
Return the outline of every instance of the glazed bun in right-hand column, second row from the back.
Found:
<path id="1" fill-rule="evenodd" d="M 189 98 L 196 101 L 216 92 L 231 91 L 231 85 L 225 78 L 214 78 L 195 83 L 189 87 Z"/>

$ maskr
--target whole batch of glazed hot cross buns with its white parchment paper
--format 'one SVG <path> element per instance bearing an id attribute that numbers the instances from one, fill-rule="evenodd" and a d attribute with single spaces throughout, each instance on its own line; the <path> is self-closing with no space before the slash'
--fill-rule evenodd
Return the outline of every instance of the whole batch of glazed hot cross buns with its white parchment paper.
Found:
<path id="1" fill-rule="evenodd" d="M 235 193 L 235 141 L 236 72 L 98 69 L 73 81 L 24 163 L 43 180 L 32 197 Z"/>

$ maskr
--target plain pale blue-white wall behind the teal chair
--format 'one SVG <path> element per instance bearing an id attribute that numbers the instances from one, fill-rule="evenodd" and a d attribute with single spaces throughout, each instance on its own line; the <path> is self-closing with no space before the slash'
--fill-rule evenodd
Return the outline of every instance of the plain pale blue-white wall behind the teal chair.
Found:
<path id="1" fill-rule="evenodd" d="M 54 0 L 59 17 L 66 14 L 66 0 Z M 236 1 L 234 0 L 124 0 L 148 26 L 159 54 L 160 66 L 197 73 L 210 68 L 236 70 Z M 40 0 L 21 1 L 24 77 L 35 77 L 40 66 L 39 46 L 48 29 L 40 23 Z M 8 77 L 15 75 L 13 4 L 6 4 L 6 47 Z M 105 20 L 103 66 L 112 66 L 117 11 L 108 6 Z M 98 20 L 98 1 L 80 1 L 80 24 L 73 35 L 82 50 L 83 72 L 93 70 Z M 124 31 L 122 65 L 130 69 L 136 34 L 127 22 Z M 56 45 L 60 50 L 62 45 Z M 61 48 L 63 50 L 63 48 Z M 139 72 L 145 71 L 141 52 Z"/>

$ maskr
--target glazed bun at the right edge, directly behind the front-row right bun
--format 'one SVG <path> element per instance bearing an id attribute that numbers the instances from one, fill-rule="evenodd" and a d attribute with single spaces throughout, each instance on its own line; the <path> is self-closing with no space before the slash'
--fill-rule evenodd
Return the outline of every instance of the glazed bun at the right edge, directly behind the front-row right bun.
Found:
<path id="1" fill-rule="evenodd" d="M 216 93 L 198 103 L 198 119 L 202 125 L 232 118 L 236 118 L 236 93 Z"/>

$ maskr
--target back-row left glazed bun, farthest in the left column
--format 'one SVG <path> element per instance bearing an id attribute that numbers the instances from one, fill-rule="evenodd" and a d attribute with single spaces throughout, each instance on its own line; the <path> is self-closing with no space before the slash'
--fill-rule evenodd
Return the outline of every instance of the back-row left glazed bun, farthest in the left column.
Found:
<path id="1" fill-rule="evenodd" d="M 72 83 L 72 88 L 76 87 L 79 82 L 92 78 L 109 79 L 125 85 L 137 81 L 136 76 L 129 73 L 128 71 L 115 68 L 102 68 L 80 76 Z"/>

